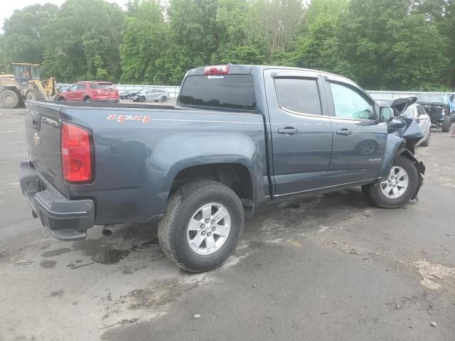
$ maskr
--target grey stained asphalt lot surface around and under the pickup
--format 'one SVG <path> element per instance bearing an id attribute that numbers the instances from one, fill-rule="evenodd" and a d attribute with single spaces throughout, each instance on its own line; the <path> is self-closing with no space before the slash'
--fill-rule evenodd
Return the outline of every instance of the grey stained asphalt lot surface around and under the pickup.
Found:
<path id="1" fill-rule="evenodd" d="M 194 275 L 155 225 L 51 237 L 18 183 L 23 114 L 0 109 L 0 340 L 455 340 L 448 134 L 417 148 L 419 202 L 382 210 L 355 188 L 263 205 L 228 262 Z"/>

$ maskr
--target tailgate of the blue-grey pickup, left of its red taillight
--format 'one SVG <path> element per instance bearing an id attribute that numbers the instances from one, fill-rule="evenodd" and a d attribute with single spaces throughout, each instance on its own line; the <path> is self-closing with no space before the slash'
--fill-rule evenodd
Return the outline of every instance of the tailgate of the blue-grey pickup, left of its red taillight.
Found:
<path id="1" fill-rule="evenodd" d="M 60 148 L 60 105 L 26 104 L 26 141 L 31 163 L 39 175 L 65 194 Z"/>

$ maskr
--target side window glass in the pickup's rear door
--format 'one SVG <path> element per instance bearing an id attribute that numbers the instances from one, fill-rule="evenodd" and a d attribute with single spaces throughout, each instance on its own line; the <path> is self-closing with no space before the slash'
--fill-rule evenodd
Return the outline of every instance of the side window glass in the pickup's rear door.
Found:
<path id="1" fill-rule="evenodd" d="M 316 80 L 276 78 L 279 107 L 299 114 L 321 115 L 321 100 Z"/>

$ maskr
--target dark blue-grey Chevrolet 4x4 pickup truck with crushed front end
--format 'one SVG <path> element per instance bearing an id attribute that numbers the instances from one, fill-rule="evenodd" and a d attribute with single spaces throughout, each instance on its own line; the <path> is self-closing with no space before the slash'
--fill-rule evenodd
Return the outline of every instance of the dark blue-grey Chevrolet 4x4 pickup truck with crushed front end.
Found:
<path id="1" fill-rule="evenodd" d="M 380 107 L 327 72 L 198 67 L 176 107 L 26 103 L 30 161 L 19 178 L 33 216 L 59 239 L 85 239 L 95 224 L 109 232 L 159 221 L 168 258 L 208 271 L 264 202 L 356 186 L 380 207 L 416 198 L 422 134 L 415 121 L 394 119 L 405 107 Z"/>

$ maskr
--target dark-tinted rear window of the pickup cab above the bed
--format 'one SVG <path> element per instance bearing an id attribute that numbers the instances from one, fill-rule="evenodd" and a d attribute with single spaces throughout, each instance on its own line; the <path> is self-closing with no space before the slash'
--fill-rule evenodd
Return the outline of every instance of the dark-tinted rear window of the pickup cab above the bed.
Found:
<path id="1" fill-rule="evenodd" d="M 183 83 L 179 102 L 185 105 L 254 110 L 255 85 L 252 75 L 189 76 Z"/>

